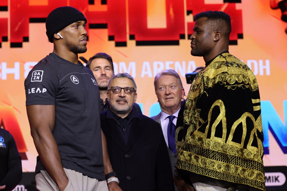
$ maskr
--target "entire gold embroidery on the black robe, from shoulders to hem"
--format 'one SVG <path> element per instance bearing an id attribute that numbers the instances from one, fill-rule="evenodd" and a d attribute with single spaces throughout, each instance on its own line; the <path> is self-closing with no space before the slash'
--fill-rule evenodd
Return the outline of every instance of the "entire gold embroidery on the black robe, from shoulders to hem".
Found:
<path id="1" fill-rule="evenodd" d="M 229 53 L 219 55 L 204 70 L 201 70 L 191 84 L 187 96 L 184 127 L 176 130 L 178 160 L 175 166 L 211 178 L 247 184 L 265 190 L 261 158 L 263 145 L 258 138 L 259 134 L 257 135 L 257 132 L 263 135 L 260 99 L 252 99 L 251 107 L 254 112 L 259 112 L 256 114 L 257 119 L 251 113 L 245 112 L 232 122 L 231 127 L 230 125 L 227 127 L 225 105 L 219 99 L 210 107 L 205 121 L 201 119 L 200 113 L 201 104 L 204 104 L 201 101 L 206 99 L 201 100 L 201 98 L 208 97 L 208 89 L 215 84 L 222 85 L 229 91 L 242 88 L 258 92 L 257 80 L 252 71 Z M 216 116 L 213 113 L 215 109 L 219 110 Z M 212 122 L 211 118 L 213 118 Z M 253 129 L 250 129 L 251 127 Z M 219 129 L 216 130 L 216 128 Z M 178 140 L 177 135 L 183 130 L 187 130 L 187 133 L 182 140 Z M 233 135 L 236 137 L 235 133 L 238 130 L 242 132 L 242 138 L 240 136 L 240 140 L 238 138 L 233 140 Z M 222 131 L 222 136 L 215 136 L 216 131 Z"/>

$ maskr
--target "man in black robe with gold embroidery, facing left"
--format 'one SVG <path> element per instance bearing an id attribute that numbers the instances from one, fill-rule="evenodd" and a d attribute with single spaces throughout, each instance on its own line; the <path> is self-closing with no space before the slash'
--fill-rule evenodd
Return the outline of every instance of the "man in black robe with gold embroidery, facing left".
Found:
<path id="1" fill-rule="evenodd" d="M 195 16 L 191 55 L 205 68 L 191 84 L 176 130 L 179 175 L 196 191 L 265 190 L 259 89 L 252 71 L 228 52 L 228 14 Z"/>

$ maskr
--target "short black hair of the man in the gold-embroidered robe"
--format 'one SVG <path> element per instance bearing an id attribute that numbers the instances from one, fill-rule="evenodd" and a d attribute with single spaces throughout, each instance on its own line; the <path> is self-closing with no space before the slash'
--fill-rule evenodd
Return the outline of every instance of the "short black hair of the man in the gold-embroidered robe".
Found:
<path id="1" fill-rule="evenodd" d="M 231 33 L 231 19 L 227 13 L 222 11 L 205 11 L 194 16 L 194 20 L 206 17 L 209 22 L 209 27 L 216 31 L 220 30 L 222 35 L 229 38 Z"/>

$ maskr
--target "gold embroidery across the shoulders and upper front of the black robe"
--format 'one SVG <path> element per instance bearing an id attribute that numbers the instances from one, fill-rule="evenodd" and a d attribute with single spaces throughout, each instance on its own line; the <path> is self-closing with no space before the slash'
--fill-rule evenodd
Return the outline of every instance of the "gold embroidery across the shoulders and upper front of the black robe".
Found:
<path id="1" fill-rule="evenodd" d="M 195 107 L 197 98 L 204 93 L 204 87 L 213 87 L 216 83 L 224 84 L 227 89 L 232 90 L 237 87 L 258 90 L 257 80 L 248 66 L 231 54 L 224 53 L 196 75 L 185 104 L 184 124 L 196 124 L 200 113 Z"/>

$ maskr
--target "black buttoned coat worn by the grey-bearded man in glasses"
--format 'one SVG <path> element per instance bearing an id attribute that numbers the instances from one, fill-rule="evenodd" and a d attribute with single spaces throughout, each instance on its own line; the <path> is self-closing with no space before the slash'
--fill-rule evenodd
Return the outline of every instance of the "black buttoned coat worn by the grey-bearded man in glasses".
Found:
<path id="1" fill-rule="evenodd" d="M 167 146 L 160 125 L 133 107 L 128 143 L 108 108 L 101 113 L 109 158 L 123 191 L 174 191 Z"/>

